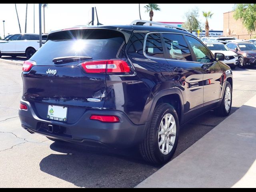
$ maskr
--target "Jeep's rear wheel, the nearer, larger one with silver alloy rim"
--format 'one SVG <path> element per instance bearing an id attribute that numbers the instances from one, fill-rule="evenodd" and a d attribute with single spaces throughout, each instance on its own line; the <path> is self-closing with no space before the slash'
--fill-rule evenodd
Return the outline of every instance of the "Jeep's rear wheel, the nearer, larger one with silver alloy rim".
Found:
<path id="1" fill-rule="evenodd" d="M 142 157 L 153 164 L 168 162 L 177 148 L 178 136 L 179 121 L 175 109 L 167 103 L 158 105 L 146 138 L 139 146 Z"/>

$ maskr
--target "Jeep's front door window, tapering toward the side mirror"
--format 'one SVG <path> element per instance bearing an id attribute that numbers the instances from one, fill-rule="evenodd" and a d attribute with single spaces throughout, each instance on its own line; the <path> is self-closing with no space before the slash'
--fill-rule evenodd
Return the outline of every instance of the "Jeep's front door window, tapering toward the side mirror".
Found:
<path id="1" fill-rule="evenodd" d="M 196 38 L 190 36 L 186 36 L 186 38 L 190 46 L 192 47 L 197 62 L 208 63 L 212 61 L 212 56 L 210 54 L 210 51 L 206 48 L 206 46 L 204 46 Z"/>

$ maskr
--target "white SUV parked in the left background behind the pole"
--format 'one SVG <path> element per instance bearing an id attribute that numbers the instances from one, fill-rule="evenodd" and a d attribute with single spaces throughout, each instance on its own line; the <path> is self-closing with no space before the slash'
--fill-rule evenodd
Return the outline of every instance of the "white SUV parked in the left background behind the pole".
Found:
<path id="1" fill-rule="evenodd" d="M 47 35 L 42 35 L 42 43 Z M 39 49 L 39 34 L 14 34 L 4 41 L 0 41 L 0 57 L 26 56 L 28 59 Z"/>

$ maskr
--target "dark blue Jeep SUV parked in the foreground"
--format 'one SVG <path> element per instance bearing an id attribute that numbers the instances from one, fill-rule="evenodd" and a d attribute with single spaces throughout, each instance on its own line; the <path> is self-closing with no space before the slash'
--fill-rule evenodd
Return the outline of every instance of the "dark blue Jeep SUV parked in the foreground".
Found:
<path id="1" fill-rule="evenodd" d="M 188 120 L 212 109 L 230 114 L 224 55 L 183 28 L 146 23 L 48 34 L 23 65 L 22 127 L 56 142 L 138 145 L 145 160 L 162 164 Z"/>

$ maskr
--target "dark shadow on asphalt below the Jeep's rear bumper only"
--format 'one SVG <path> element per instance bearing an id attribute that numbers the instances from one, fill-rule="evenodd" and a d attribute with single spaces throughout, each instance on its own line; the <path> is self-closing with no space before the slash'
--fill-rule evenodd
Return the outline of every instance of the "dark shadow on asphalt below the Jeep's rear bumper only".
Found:
<path id="1" fill-rule="evenodd" d="M 58 154 L 42 159 L 40 170 L 79 187 L 136 186 L 160 168 L 146 164 L 137 148 L 111 150 L 67 142 L 54 142 L 50 148 Z"/>

